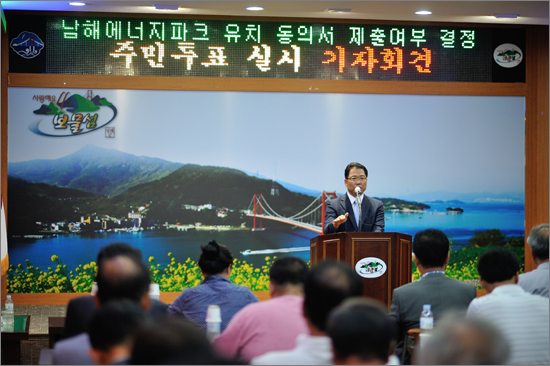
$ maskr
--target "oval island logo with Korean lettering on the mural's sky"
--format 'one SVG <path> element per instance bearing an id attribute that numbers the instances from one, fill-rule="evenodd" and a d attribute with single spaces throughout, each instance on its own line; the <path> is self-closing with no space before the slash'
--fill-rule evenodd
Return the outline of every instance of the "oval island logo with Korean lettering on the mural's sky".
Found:
<path id="1" fill-rule="evenodd" d="M 86 96 L 62 92 L 57 98 L 35 95 L 33 100 L 49 101 L 33 112 L 42 118 L 29 126 L 32 132 L 43 136 L 66 137 L 93 132 L 111 123 L 117 115 L 111 102 L 94 96 L 91 90 Z"/>

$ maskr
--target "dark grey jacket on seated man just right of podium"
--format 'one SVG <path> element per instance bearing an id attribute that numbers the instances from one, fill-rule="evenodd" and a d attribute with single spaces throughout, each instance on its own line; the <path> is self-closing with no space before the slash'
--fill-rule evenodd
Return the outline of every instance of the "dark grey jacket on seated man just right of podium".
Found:
<path id="1" fill-rule="evenodd" d="M 434 323 L 437 323 L 450 309 L 466 311 L 476 296 L 474 286 L 449 278 L 443 273 L 429 274 L 420 281 L 393 290 L 389 316 L 398 327 L 398 356 L 407 331 L 420 327 L 420 313 L 424 304 L 432 306 Z"/>

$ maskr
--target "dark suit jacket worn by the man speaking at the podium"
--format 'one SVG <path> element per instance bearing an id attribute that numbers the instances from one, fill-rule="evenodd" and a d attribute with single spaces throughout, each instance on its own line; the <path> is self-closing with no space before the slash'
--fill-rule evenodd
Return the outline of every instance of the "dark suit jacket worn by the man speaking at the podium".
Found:
<path id="1" fill-rule="evenodd" d="M 345 223 L 338 226 L 338 230 L 334 229 L 332 221 L 340 215 L 349 213 L 348 219 Z M 363 195 L 363 202 L 361 204 L 361 231 L 362 232 L 383 232 L 384 231 L 384 204 L 382 201 L 376 200 L 367 195 Z M 353 213 L 353 207 L 351 201 L 346 194 L 328 201 L 327 210 L 325 214 L 325 227 L 323 233 L 334 234 L 343 232 L 356 232 L 357 220 Z"/>

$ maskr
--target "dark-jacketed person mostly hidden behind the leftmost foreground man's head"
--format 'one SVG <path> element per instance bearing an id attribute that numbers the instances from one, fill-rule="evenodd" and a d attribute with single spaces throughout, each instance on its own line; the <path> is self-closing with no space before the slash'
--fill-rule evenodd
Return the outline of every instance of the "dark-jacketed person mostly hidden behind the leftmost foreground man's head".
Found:
<path id="1" fill-rule="evenodd" d="M 141 251 L 139 249 L 133 248 L 126 243 L 113 243 L 101 248 L 97 254 L 96 263 L 98 271 L 103 259 L 113 258 L 117 255 L 135 256 L 137 259 L 141 260 Z M 153 318 L 158 318 L 166 315 L 167 309 L 168 305 L 158 300 L 152 300 L 149 315 Z M 93 296 L 82 296 L 69 301 L 63 338 L 69 338 L 85 332 L 88 322 L 96 310 L 97 306 Z"/>

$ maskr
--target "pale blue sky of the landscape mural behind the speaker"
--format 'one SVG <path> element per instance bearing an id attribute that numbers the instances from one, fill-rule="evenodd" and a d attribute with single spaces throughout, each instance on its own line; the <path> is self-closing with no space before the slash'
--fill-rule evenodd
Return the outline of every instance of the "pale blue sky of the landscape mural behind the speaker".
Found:
<path id="1" fill-rule="evenodd" d="M 67 89 L 86 96 L 86 89 Z M 344 190 L 369 169 L 377 197 L 429 191 L 523 192 L 523 97 L 99 90 L 118 110 L 104 129 L 46 137 L 34 95 L 9 88 L 8 161 L 57 159 L 92 144 L 173 162 L 225 166 L 312 190 Z M 48 102 L 44 102 L 47 104 Z"/>

